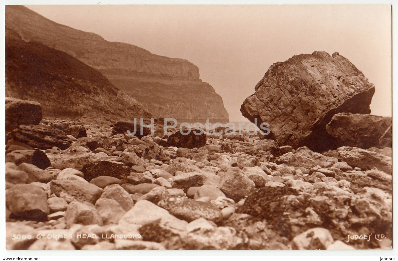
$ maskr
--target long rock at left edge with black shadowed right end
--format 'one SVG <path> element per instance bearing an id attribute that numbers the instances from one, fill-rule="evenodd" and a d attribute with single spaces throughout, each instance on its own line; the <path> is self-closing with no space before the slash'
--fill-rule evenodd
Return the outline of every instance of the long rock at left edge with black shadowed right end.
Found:
<path id="1" fill-rule="evenodd" d="M 41 169 L 51 166 L 51 162 L 49 158 L 47 158 L 47 155 L 38 149 L 17 150 L 7 153 L 6 162 L 14 162 L 17 166 L 25 162 L 33 164 Z"/>

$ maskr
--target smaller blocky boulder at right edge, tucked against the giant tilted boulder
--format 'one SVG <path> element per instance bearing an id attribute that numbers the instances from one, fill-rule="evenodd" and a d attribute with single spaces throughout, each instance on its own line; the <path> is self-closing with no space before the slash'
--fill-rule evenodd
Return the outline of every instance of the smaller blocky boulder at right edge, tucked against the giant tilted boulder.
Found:
<path id="1" fill-rule="evenodd" d="M 326 131 L 345 146 L 382 149 L 392 145 L 391 125 L 391 117 L 339 113 L 326 125 Z"/>

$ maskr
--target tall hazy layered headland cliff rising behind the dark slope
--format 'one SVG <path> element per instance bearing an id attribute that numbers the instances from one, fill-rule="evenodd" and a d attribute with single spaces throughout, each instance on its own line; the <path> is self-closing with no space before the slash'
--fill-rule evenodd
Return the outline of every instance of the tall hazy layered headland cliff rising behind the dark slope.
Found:
<path id="1" fill-rule="evenodd" d="M 99 70 L 151 112 L 178 119 L 228 121 L 221 97 L 187 60 L 152 54 L 127 43 L 55 23 L 24 6 L 6 6 L 6 27 L 24 41 L 61 50 Z M 161 98 L 161 99 L 160 99 Z"/>

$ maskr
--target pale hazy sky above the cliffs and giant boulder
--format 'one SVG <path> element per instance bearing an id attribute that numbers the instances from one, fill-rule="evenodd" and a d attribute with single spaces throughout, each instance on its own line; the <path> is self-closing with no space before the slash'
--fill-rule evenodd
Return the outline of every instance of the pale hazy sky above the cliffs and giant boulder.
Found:
<path id="1" fill-rule="evenodd" d="M 274 62 L 339 52 L 375 84 L 372 114 L 391 116 L 388 5 L 27 6 L 57 23 L 187 59 L 224 100 L 231 121 Z"/>

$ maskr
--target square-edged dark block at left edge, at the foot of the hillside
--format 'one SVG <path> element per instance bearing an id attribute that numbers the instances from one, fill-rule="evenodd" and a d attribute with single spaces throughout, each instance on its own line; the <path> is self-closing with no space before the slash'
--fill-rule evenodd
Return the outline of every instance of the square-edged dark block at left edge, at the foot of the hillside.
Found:
<path id="1" fill-rule="evenodd" d="M 39 102 L 6 97 L 6 132 L 21 124 L 39 124 L 42 116 Z"/>

